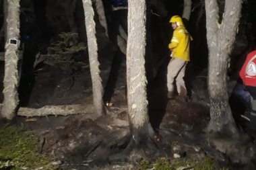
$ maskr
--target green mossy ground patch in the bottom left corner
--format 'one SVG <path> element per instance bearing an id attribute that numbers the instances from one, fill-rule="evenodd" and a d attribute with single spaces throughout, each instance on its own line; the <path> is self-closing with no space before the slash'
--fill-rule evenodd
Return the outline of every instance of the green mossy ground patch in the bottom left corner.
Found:
<path id="1" fill-rule="evenodd" d="M 0 126 L 0 136 L 0 169 L 56 169 L 51 159 L 38 153 L 38 138 L 30 130 L 5 125 Z"/>

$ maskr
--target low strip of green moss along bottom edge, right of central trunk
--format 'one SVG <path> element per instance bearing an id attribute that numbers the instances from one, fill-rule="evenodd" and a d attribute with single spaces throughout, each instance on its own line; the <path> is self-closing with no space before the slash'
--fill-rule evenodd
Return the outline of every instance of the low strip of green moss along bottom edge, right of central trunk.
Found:
<path id="1" fill-rule="evenodd" d="M 166 158 L 158 158 L 154 163 L 149 163 L 147 160 L 141 161 L 138 169 L 154 169 L 154 170 L 176 170 L 179 167 L 191 167 L 194 170 L 217 170 L 215 168 L 215 162 L 213 159 L 205 158 L 202 161 L 195 160 L 185 160 L 185 159 L 174 159 L 169 160 Z M 228 170 L 227 168 L 222 168 L 219 170 Z"/>

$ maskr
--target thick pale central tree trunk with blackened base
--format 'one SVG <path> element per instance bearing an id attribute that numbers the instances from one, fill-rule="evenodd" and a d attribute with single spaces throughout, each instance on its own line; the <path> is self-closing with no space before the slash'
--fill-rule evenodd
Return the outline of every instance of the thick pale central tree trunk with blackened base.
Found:
<path id="1" fill-rule="evenodd" d="M 150 138 L 148 127 L 146 53 L 146 0 L 128 4 L 127 102 L 131 135 L 138 146 Z"/>

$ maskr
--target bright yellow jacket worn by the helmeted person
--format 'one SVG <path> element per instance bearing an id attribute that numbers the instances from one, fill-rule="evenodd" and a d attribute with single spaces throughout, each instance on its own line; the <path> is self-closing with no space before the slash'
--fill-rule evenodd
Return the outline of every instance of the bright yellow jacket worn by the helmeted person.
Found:
<path id="1" fill-rule="evenodd" d="M 189 42 L 192 40 L 189 32 L 187 32 L 183 23 L 181 26 L 177 27 L 170 40 L 169 48 L 172 50 L 172 57 L 181 58 L 185 61 L 189 61 Z"/>

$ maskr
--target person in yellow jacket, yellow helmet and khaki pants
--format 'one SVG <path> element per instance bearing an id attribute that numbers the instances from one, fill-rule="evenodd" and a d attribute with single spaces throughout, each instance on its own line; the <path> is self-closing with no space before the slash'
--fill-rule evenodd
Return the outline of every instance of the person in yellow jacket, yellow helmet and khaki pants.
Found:
<path id="1" fill-rule="evenodd" d="M 183 77 L 187 62 L 189 62 L 189 43 L 192 40 L 189 32 L 187 32 L 181 17 L 174 15 L 170 18 L 172 29 L 174 30 L 172 40 L 168 48 L 170 48 L 171 56 L 167 69 L 167 87 L 168 98 L 175 97 L 174 81 L 176 83 L 179 97 L 187 99 L 187 88 Z M 175 79 L 176 78 L 176 79 Z"/>

